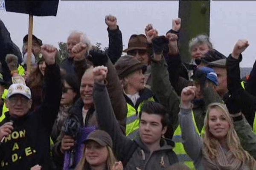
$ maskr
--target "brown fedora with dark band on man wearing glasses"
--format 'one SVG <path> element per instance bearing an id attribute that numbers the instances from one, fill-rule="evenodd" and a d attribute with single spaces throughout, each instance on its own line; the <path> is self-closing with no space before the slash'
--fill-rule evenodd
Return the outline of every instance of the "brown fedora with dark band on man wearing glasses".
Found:
<path id="1" fill-rule="evenodd" d="M 123 52 L 128 52 L 131 50 L 135 50 L 135 49 L 142 49 L 142 50 L 146 50 L 147 49 L 147 37 L 143 34 L 137 35 L 137 34 L 133 34 L 131 35 L 129 42 L 128 42 L 128 48 L 125 49 Z"/>

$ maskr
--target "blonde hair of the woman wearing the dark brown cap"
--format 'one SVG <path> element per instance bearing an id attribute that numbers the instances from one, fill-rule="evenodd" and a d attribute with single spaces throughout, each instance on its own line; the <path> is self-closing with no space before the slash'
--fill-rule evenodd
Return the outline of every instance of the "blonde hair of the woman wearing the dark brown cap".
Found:
<path id="1" fill-rule="evenodd" d="M 113 165 L 116 162 L 116 158 L 114 156 L 114 153 L 111 149 L 110 146 L 106 146 L 108 149 L 108 158 L 107 158 L 107 168 L 108 170 L 112 170 Z M 85 147 L 84 147 L 84 152 L 79 160 L 79 163 L 76 165 L 76 169 L 75 170 L 89 170 L 89 164 L 85 159 Z"/>

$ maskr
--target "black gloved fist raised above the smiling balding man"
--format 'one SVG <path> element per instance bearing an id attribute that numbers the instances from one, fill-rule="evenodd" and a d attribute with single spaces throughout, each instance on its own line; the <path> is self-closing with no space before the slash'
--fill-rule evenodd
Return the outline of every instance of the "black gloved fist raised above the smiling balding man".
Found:
<path id="1" fill-rule="evenodd" d="M 93 62 L 93 66 L 105 65 L 108 62 L 108 55 L 105 51 L 93 49 L 89 52 L 88 59 Z"/>

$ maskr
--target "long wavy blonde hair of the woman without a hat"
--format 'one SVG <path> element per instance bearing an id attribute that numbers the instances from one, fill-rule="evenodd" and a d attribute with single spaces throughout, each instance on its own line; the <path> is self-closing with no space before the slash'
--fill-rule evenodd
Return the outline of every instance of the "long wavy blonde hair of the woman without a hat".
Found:
<path id="1" fill-rule="evenodd" d="M 247 151 L 245 151 L 241 147 L 240 140 L 237 136 L 236 130 L 234 129 L 233 118 L 230 116 L 230 113 L 228 112 L 226 105 L 221 103 L 210 104 L 208 106 L 207 113 L 204 118 L 205 134 L 203 137 L 203 142 L 205 154 L 207 154 L 210 159 L 215 159 L 217 156 L 216 148 L 219 145 L 218 139 L 216 139 L 215 136 L 213 136 L 212 133 L 209 131 L 209 112 L 212 109 L 216 109 L 222 112 L 224 118 L 227 120 L 230 126 L 226 136 L 226 143 L 229 150 L 237 159 L 243 162 L 248 162 L 250 169 L 253 169 L 253 167 L 255 167 L 256 161 L 253 159 L 252 156 L 250 156 L 250 154 Z"/>

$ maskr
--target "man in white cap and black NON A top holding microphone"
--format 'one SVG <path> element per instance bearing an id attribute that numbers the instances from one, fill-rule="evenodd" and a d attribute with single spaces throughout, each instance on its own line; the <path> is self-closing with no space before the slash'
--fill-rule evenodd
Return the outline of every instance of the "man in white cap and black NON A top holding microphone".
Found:
<path id="1" fill-rule="evenodd" d="M 28 170 L 39 164 L 50 169 L 50 142 L 52 125 L 61 100 L 60 69 L 55 63 L 56 48 L 42 45 L 45 58 L 44 101 L 38 110 L 29 112 L 32 105 L 30 89 L 13 84 L 7 94 L 9 112 L 0 123 L 0 161 L 3 170 Z"/>

